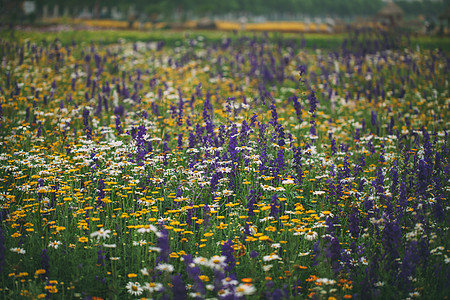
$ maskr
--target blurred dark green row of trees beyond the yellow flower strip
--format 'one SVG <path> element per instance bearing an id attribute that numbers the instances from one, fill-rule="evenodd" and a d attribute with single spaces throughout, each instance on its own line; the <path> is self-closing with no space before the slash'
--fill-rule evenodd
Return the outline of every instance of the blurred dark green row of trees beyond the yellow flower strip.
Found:
<path id="1" fill-rule="evenodd" d="M 0 0 L 3 7 L 17 5 L 18 0 Z M 386 2 L 382 0 L 35 0 L 37 13 L 47 5 L 53 7 L 68 7 L 72 11 L 87 7 L 96 14 L 101 7 L 117 7 L 127 12 L 132 5 L 136 12 L 146 15 L 158 15 L 158 18 L 170 19 L 174 15 L 211 16 L 233 13 L 237 15 L 283 14 L 285 16 L 332 16 L 355 17 L 373 16 Z M 397 0 L 407 17 L 419 14 L 427 17 L 437 16 L 449 5 L 450 0 Z M 97 15 L 98 16 L 98 15 Z"/>

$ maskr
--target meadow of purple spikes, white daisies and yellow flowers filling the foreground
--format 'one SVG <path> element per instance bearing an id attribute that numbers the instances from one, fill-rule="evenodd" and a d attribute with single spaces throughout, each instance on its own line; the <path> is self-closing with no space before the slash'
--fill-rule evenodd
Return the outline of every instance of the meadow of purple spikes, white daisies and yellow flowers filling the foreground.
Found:
<path id="1" fill-rule="evenodd" d="M 2 299 L 450 294 L 448 52 L 361 29 L 0 57 Z"/>

